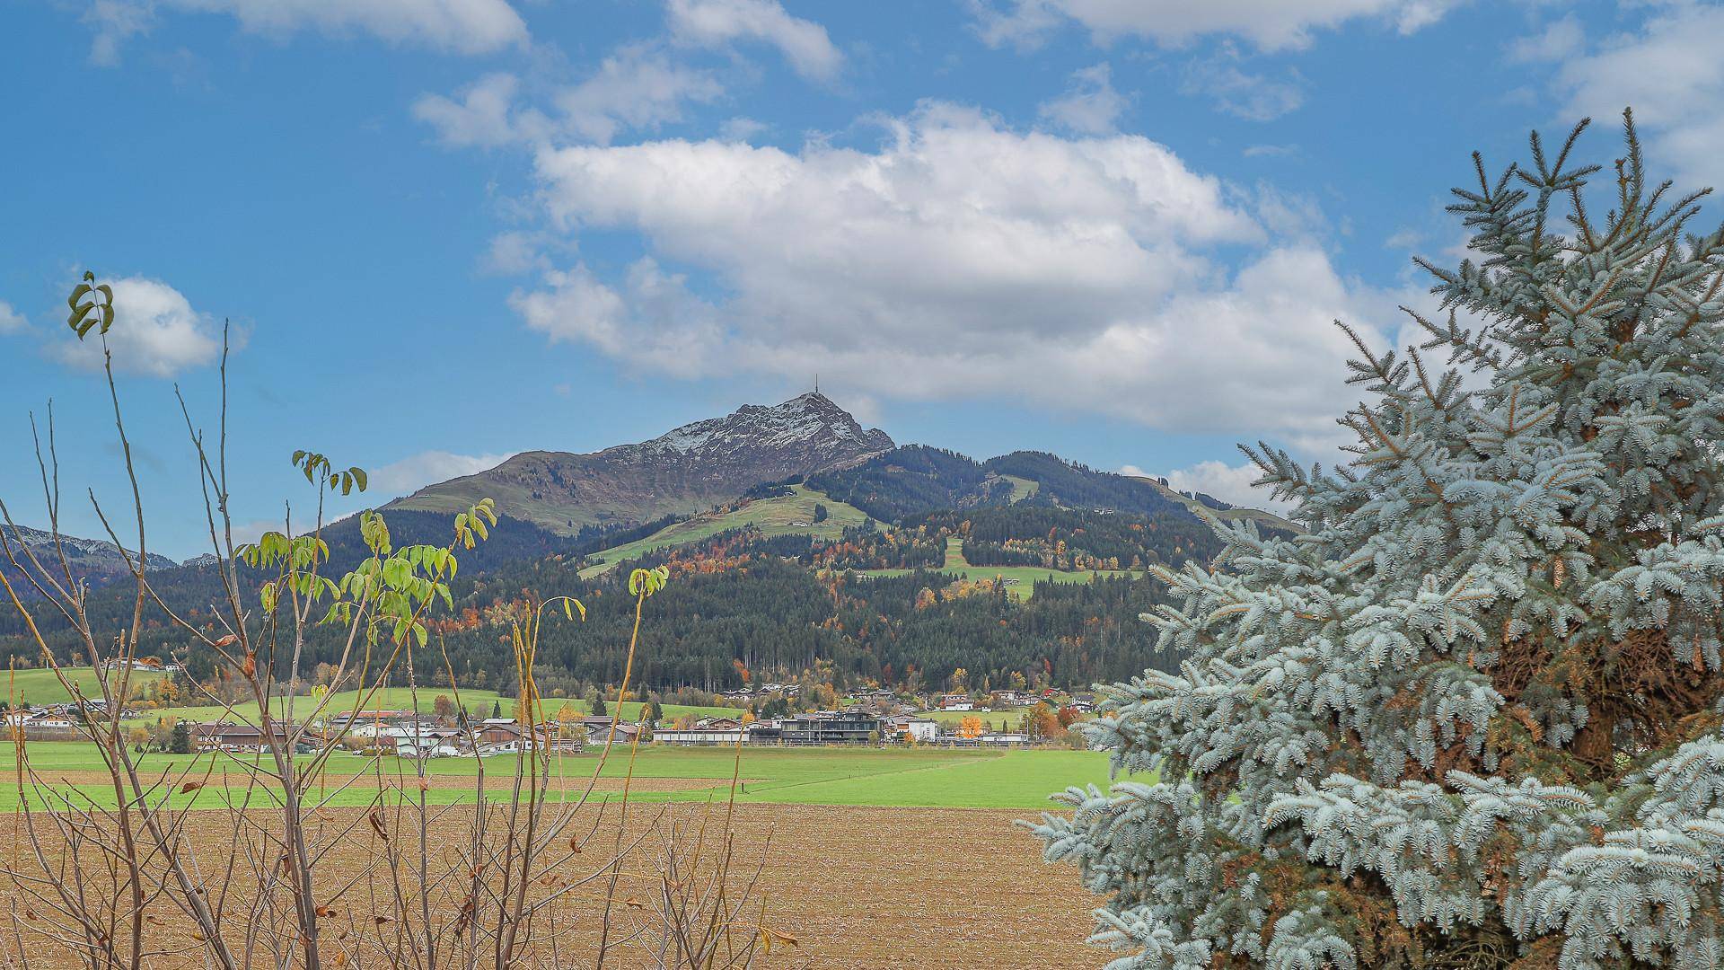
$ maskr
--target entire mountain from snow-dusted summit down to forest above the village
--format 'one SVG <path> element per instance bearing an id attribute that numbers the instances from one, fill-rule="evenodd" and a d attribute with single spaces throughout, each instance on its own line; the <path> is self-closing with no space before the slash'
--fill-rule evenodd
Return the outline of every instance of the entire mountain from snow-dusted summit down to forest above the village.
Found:
<path id="1" fill-rule="evenodd" d="M 819 394 L 593 454 L 526 452 L 421 488 L 383 514 L 397 547 L 443 545 L 453 540 L 452 513 L 481 497 L 497 501 L 500 520 L 460 552 L 455 609 L 440 620 L 436 663 L 422 659 L 419 673 L 452 666 L 462 683 L 512 690 L 498 625 L 522 601 L 581 595 L 588 621 L 553 625 L 540 652 L 541 682 L 571 694 L 622 675 L 629 563 L 683 564 L 653 601 L 648 659 L 636 671 L 657 689 L 719 690 L 738 685 L 741 670 L 795 678 L 822 663 L 836 685 L 941 683 L 959 668 L 972 683 L 1024 675 L 1076 685 L 1177 665 L 1138 621 L 1165 590 L 1140 580 L 1155 564 L 1214 561 L 1221 540 L 1196 513 L 1293 530 L 1257 509 L 1048 452 L 974 461 L 896 445 Z M 41 532 L 17 539 L 38 554 L 52 549 Z M 326 575 L 369 554 L 359 516 L 328 525 L 322 539 Z M 90 597 L 93 623 L 131 623 L 121 552 L 79 539 L 66 547 L 76 573 L 109 587 Z M 152 556 L 157 595 L 181 614 L 221 602 L 212 563 L 169 568 Z M 238 576 L 248 590 L 264 582 L 247 566 Z M 147 656 L 183 646 L 159 613 L 147 604 Z M 76 632 L 40 614 L 50 649 L 71 656 Z M 24 633 L 0 602 L 0 663 L 34 658 Z M 307 663 L 333 663 L 343 640 L 317 628 L 307 651 Z M 197 677 L 210 673 L 207 656 L 191 663 Z"/>

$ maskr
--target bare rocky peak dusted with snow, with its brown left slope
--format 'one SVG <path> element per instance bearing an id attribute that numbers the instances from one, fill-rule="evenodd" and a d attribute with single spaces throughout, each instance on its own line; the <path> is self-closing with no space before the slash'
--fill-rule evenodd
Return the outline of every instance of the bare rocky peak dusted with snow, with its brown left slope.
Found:
<path id="1" fill-rule="evenodd" d="M 822 394 L 803 394 L 776 407 L 748 404 L 634 445 L 591 454 L 522 452 L 384 509 L 457 513 L 491 497 L 512 518 L 576 535 L 581 526 L 696 513 L 755 485 L 846 468 L 891 447 L 886 431 L 862 428 Z"/>

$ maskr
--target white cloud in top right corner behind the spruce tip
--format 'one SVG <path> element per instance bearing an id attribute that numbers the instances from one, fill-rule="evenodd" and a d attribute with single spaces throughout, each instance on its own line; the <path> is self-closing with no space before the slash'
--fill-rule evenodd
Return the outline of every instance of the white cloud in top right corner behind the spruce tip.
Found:
<path id="1" fill-rule="evenodd" d="M 1564 123 L 1610 121 L 1633 107 L 1655 169 L 1674 167 L 1690 183 L 1681 188 L 1724 185 L 1721 36 L 1724 7 L 1652 7 L 1636 33 L 1562 64 L 1555 83 L 1567 97 Z"/>

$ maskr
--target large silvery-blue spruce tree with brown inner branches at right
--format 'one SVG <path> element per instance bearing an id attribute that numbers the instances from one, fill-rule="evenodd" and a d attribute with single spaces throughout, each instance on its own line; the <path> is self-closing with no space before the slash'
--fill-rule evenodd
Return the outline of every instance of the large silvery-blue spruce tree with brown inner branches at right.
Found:
<path id="1" fill-rule="evenodd" d="M 1110 970 L 1724 963 L 1724 231 L 1626 123 L 1474 155 L 1419 323 L 1476 380 L 1355 338 L 1346 466 L 1246 449 L 1307 532 L 1159 571 L 1188 659 L 1088 725 L 1136 775 L 1036 827 Z"/>

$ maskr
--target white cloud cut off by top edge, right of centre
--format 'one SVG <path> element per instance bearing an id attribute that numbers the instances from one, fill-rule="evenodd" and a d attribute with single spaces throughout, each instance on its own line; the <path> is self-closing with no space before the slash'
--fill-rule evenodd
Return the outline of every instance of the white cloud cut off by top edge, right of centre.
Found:
<path id="1" fill-rule="evenodd" d="M 1181 45 L 1205 35 L 1250 40 L 1260 50 L 1302 48 L 1317 29 L 1355 19 L 1414 33 L 1464 0 L 971 0 L 978 29 L 991 45 L 1034 45 L 1076 22 L 1107 43 L 1138 36 Z"/>

